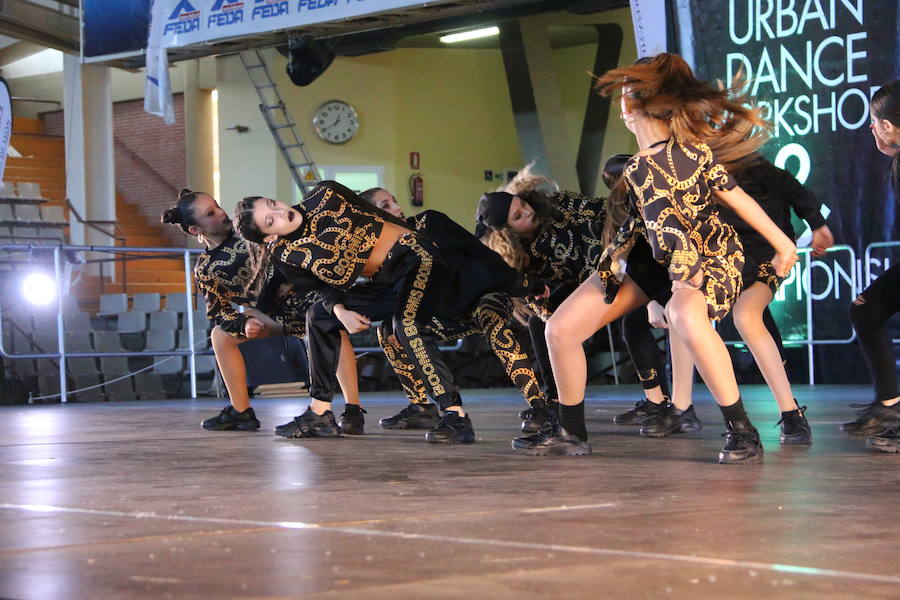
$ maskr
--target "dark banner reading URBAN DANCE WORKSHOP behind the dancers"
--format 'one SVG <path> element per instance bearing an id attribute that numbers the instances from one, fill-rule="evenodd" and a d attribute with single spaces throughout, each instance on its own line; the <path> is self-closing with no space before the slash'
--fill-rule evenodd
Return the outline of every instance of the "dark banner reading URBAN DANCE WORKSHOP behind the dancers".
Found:
<path id="1" fill-rule="evenodd" d="M 874 278 L 891 264 L 890 253 L 882 253 L 867 269 L 865 248 L 900 233 L 887 179 L 890 159 L 875 148 L 869 130 L 872 93 L 900 77 L 897 0 L 690 0 L 690 7 L 693 37 L 682 44 L 691 44 L 683 50 L 692 51 L 697 75 L 730 82 L 743 72 L 747 91 L 773 127 L 763 154 L 815 192 L 837 243 L 855 250 L 852 264 L 838 253 L 814 261 L 811 272 L 798 266 L 773 308 L 793 315 L 783 323 L 796 324 L 810 294 L 809 317 L 840 315 L 832 324 L 840 332 L 827 337 L 843 339 L 848 295 L 868 285 L 866 273 Z M 826 285 L 823 296 L 818 280 L 829 270 L 835 282 L 847 283 L 854 273 L 856 289 Z M 817 328 L 817 339 L 826 324 Z M 786 338 L 804 337 L 787 329 Z"/>

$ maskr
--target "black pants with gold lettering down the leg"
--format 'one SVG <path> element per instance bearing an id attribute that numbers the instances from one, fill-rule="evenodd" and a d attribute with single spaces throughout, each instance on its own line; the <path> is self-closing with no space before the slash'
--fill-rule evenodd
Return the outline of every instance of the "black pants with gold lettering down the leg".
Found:
<path id="1" fill-rule="evenodd" d="M 346 292 L 343 304 L 372 321 L 391 323 L 397 342 L 409 356 L 427 394 L 446 409 L 461 405 L 462 399 L 437 349 L 437 340 L 426 327 L 432 302 L 428 284 L 434 274 L 432 253 L 414 236 L 403 236 L 372 280 Z M 310 396 L 316 400 L 330 402 L 339 387 L 336 367 L 342 329 L 341 323 L 321 304 L 307 312 Z"/>

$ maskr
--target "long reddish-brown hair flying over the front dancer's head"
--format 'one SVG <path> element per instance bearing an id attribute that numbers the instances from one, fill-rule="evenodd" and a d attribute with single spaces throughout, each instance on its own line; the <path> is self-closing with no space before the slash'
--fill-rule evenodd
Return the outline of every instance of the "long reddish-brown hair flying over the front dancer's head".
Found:
<path id="1" fill-rule="evenodd" d="M 604 96 L 622 90 L 628 110 L 669 121 L 676 139 L 708 144 L 729 170 L 743 166 L 769 137 L 768 123 L 749 97 L 738 93 L 741 87 L 736 78 L 730 88 L 717 89 L 668 52 L 607 71 L 596 84 Z"/>

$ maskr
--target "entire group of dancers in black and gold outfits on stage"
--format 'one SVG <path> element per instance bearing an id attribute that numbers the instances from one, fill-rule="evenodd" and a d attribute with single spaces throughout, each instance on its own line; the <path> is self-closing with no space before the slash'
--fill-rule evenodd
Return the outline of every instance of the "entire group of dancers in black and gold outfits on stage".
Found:
<path id="1" fill-rule="evenodd" d="M 474 442 L 438 343 L 477 334 L 528 404 L 514 451 L 590 454 L 583 342 L 621 319 L 645 397 L 615 422 L 653 437 L 699 431 L 691 402 L 696 367 L 725 421 L 719 462 L 759 462 L 759 434 L 712 325 L 733 311 L 777 402 L 781 442 L 810 444 L 806 407 L 794 399 L 767 307 L 798 259 L 791 208 L 809 224 L 814 254 L 834 243 L 818 201 L 758 153 L 767 139 L 758 109 L 697 79 L 679 56 L 613 69 L 597 87 L 621 93 L 622 119 L 639 146 L 633 156 L 607 161 L 610 195 L 559 190 L 525 168 L 481 197 L 477 237 L 440 212 L 406 217 L 381 188 L 357 195 L 325 181 L 296 206 L 251 196 L 238 203 L 234 219 L 209 194 L 183 190 L 162 221 L 206 247 L 195 275 L 215 323 L 212 347 L 230 399 L 202 426 L 260 427 L 238 346 L 286 334 L 305 339 L 311 400 L 275 433 L 362 434 L 365 410 L 348 334 L 375 326 L 409 400 L 381 419 L 382 427 L 426 429 L 430 443 Z M 880 88 L 871 109 L 876 146 L 893 157 L 896 193 L 900 82 Z M 900 393 L 886 329 L 900 310 L 898 277 L 894 266 L 851 307 L 876 397 L 843 429 L 885 452 L 900 445 Z M 533 356 L 520 345 L 514 319 L 527 323 Z M 671 390 L 651 326 L 668 330 Z M 338 391 L 345 399 L 339 420 L 331 410 Z"/>

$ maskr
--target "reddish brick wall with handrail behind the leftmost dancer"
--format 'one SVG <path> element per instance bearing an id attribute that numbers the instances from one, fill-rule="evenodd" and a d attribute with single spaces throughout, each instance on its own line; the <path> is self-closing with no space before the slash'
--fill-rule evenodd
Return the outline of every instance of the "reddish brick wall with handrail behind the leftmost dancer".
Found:
<path id="1" fill-rule="evenodd" d="M 160 117 L 144 112 L 143 100 L 113 105 L 113 135 L 176 190 L 184 187 L 187 178 L 183 100 L 181 94 L 175 95 L 175 123 L 168 126 Z M 45 133 L 64 134 L 62 111 L 44 113 L 42 118 Z M 148 224 L 163 232 L 173 245 L 183 247 L 187 240 L 179 229 L 159 225 L 160 214 L 174 204 L 176 192 L 119 144 L 115 145 L 115 152 L 116 191 L 128 203 L 138 206 Z"/>

